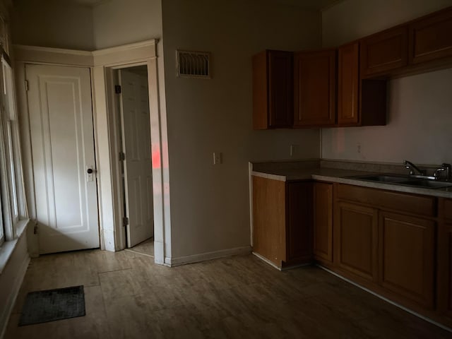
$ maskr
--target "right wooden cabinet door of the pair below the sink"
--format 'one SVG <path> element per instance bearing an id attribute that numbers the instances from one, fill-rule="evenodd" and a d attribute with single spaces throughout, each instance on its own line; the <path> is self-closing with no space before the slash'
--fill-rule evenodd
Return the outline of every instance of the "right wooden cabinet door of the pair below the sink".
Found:
<path id="1" fill-rule="evenodd" d="M 380 284 L 427 308 L 434 300 L 434 232 L 431 220 L 380 214 Z"/>

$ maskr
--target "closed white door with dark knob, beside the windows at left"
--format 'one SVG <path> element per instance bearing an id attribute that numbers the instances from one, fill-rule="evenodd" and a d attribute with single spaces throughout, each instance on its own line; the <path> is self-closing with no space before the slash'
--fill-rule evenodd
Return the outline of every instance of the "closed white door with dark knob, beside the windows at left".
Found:
<path id="1" fill-rule="evenodd" d="M 25 72 L 40 253 L 99 247 L 90 69 Z"/>

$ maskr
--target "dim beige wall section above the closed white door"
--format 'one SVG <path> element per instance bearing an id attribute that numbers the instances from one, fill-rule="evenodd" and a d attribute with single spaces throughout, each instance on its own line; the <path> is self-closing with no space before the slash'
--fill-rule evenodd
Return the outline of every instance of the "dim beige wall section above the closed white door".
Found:
<path id="1" fill-rule="evenodd" d="M 66 49 L 95 49 L 93 11 L 59 0 L 15 0 L 13 43 Z"/>

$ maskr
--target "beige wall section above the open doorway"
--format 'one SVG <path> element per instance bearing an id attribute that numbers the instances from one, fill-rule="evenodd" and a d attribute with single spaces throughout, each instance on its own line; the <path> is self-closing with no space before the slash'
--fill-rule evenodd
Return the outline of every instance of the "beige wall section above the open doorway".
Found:
<path id="1" fill-rule="evenodd" d="M 161 0 L 111 0 L 93 8 L 96 49 L 162 37 Z"/>

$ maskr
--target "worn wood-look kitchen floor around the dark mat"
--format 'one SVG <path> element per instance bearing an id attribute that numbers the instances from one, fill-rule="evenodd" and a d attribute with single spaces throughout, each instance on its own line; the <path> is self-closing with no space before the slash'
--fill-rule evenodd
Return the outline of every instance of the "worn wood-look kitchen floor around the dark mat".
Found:
<path id="1" fill-rule="evenodd" d="M 27 292 L 85 286 L 86 316 L 18 327 Z M 167 268 L 130 251 L 32 259 L 5 338 L 452 338 L 320 268 L 254 256 Z"/>

